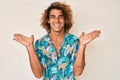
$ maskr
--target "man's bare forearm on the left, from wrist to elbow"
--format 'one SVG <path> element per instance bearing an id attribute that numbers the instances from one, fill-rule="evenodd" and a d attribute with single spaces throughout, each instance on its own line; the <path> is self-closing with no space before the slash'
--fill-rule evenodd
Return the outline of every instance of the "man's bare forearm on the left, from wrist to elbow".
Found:
<path id="1" fill-rule="evenodd" d="M 28 51 L 32 72 L 35 75 L 35 77 L 41 78 L 43 76 L 43 69 L 42 69 L 42 66 L 38 60 L 38 57 L 37 57 L 36 52 L 34 50 L 34 47 L 33 47 L 33 45 L 30 45 L 29 47 L 26 47 L 26 48 Z"/>

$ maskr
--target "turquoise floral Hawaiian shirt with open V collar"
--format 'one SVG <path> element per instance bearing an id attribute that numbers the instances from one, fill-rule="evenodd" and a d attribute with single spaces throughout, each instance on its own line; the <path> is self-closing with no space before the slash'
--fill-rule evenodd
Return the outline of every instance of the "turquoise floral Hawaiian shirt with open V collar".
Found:
<path id="1" fill-rule="evenodd" d="M 43 80 L 75 80 L 73 65 L 79 38 L 66 33 L 58 56 L 49 34 L 35 41 L 35 50 L 44 69 Z"/>

